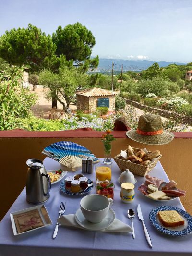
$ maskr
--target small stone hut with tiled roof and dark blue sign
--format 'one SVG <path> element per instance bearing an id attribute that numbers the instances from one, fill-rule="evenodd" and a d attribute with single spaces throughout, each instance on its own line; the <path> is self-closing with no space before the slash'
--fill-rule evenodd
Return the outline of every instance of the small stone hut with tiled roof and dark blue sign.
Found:
<path id="1" fill-rule="evenodd" d="M 76 93 L 77 110 L 95 112 L 96 107 L 108 107 L 109 111 L 115 111 L 116 92 L 100 88 L 91 88 Z"/>

